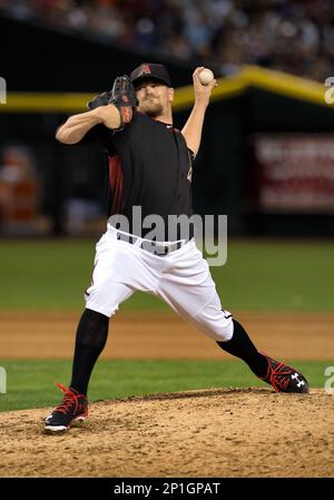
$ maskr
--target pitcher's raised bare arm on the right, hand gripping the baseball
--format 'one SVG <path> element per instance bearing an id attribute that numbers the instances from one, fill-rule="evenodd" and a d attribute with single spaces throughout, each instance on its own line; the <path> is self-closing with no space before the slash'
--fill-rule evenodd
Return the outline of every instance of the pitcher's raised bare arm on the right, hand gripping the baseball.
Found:
<path id="1" fill-rule="evenodd" d="M 195 156 L 198 153 L 202 139 L 202 129 L 205 118 L 205 111 L 210 100 L 210 94 L 216 86 L 216 80 L 213 79 L 209 84 L 203 85 L 199 80 L 199 73 L 204 67 L 198 67 L 193 73 L 195 104 L 189 118 L 184 126 L 181 133 L 186 139 L 187 146 Z"/>

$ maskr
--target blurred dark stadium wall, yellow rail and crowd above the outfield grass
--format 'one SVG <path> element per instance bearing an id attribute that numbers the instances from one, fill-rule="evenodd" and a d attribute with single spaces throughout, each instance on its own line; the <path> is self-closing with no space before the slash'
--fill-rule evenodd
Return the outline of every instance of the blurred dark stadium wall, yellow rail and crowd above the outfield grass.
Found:
<path id="1" fill-rule="evenodd" d="M 220 78 L 196 161 L 197 213 L 227 214 L 230 235 L 333 236 L 333 12 L 327 0 L 1 0 L 1 234 L 104 226 L 101 153 L 66 148 L 55 130 L 154 59 L 178 89 L 179 126 L 194 68 Z"/>

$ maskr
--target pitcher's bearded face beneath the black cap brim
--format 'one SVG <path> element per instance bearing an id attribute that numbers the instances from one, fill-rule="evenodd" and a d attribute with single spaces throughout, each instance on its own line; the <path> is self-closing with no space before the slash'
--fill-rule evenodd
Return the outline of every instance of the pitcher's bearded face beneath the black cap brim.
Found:
<path id="1" fill-rule="evenodd" d="M 138 110 L 153 118 L 166 112 L 171 102 L 171 89 L 155 80 L 145 80 L 136 89 Z"/>

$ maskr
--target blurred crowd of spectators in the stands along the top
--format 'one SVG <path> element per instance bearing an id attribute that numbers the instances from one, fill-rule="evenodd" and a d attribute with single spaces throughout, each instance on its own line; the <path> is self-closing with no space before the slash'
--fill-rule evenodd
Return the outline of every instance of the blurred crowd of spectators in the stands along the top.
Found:
<path id="1" fill-rule="evenodd" d="M 148 53 L 256 63 L 323 81 L 334 69 L 334 0 L 0 0 L 0 12 Z"/>

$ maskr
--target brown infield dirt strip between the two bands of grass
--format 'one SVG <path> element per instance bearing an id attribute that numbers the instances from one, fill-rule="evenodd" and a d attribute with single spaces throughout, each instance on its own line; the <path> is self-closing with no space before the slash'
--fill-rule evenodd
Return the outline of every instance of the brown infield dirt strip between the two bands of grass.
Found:
<path id="1" fill-rule="evenodd" d="M 3 312 L 2 359 L 71 359 L 80 312 Z M 291 360 L 334 355 L 334 313 L 236 313 L 258 349 Z M 176 314 L 119 312 L 110 321 L 106 359 L 218 360 L 230 355 Z M 334 360 L 333 360 L 334 362 Z"/>

